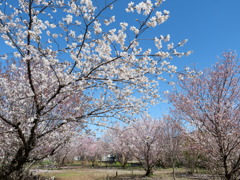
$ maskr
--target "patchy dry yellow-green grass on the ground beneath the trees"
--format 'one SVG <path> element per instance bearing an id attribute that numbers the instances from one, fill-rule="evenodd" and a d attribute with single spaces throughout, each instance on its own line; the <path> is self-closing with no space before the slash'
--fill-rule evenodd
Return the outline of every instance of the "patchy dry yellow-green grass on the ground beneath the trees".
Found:
<path id="1" fill-rule="evenodd" d="M 177 180 L 197 180 L 206 179 L 202 175 L 188 176 L 184 169 L 177 169 Z M 45 177 L 54 176 L 57 180 L 122 180 L 122 179 L 146 179 L 146 180 L 172 180 L 171 169 L 160 169 L 154 172 L 151 177 L 143 177 L 143 170 L 123 170 L 123 169 L 91 169 L 76 168 L 65 170 L 45 170 L 39 171 L 38 174 Z M 117 177 L 116 177 L 117 175 Z"/>

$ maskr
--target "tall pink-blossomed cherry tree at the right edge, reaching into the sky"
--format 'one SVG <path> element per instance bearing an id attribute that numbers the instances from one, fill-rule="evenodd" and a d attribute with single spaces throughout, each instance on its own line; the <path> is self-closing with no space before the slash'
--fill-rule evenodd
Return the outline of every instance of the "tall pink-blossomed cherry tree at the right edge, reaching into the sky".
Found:
<path id="1" fill-rule="evenodd" d="M 226 52 L 202 75 L 180 75 L 182 90 L 170 96 L 179 114 L 198 132 L 189 135 L 207 152 L 211 170 L 227 180 L 239 179 L 240 174 L 239 70 L 236 53 Z"/>

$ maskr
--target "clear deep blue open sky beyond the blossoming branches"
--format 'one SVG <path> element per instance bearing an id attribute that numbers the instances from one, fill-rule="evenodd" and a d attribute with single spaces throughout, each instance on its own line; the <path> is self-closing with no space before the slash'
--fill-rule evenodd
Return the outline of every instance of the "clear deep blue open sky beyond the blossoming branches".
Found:
<path id="1" fill-rule="evenodd" d="M 166 0 L 161 9 L 170 11 L 170 18 L 157 31 L 169 33 L 173 41 L 189 39 L 189 57 L 175 61 L 179 68 L 196 64 L 198 69 L 210 67 L 224 51 L 240 53 L 240 0 Z M 150 109 L 158 117 L 167 104 Z"/>

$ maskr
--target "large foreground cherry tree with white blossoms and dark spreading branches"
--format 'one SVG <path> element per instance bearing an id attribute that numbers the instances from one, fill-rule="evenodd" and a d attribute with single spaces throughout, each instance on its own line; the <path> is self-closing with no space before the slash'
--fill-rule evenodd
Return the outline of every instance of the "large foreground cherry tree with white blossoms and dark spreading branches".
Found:
<path id="1" fill-rule="evenodd" d="M 117 0 L 0 1 L 1 178 L 22 179 L 26 164 L 54 154 L 76 129 L 129 120 L 157 102 L 161 74 L 176 72 L 168 60 L 191 53 L 176 50 L 187 40 L 144 36 L 169 18 L 162 2 L 130 2 L 137 21 L 118 22 Z M 155 47 L 143 48 L 144 39 Z"/>

